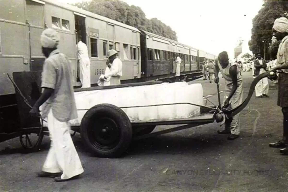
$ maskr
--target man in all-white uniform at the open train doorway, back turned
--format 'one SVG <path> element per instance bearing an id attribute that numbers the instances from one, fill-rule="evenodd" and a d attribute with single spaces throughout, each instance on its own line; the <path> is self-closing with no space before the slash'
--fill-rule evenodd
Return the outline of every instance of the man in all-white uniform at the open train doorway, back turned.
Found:
<path id="1" fill-rule="evenodd" d="M 90 83 L 90 59 L 88 56 L 88 48 L 85 43 L 81 41 L 81 36 L 78 35 L 78 44 L 77 44 L 77 55 L 79 61 L 80 69 L 80 81 L 82 83 L 81 88 L 91 87 Z"/>

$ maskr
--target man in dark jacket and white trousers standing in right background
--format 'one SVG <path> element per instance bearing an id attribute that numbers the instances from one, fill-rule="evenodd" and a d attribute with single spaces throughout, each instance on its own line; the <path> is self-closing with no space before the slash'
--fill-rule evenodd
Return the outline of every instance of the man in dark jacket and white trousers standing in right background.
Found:
<path id="1" fill-rule="evenodd" d="M 261 57 L 261 53 L 257 53 L 257 59 L 254 60 L 254 77 L 257 77 L 258 75 L 265 73 L 267 64 L 266 61 Z M 269 97 L 268 94 L 269 90 L 269 84 L 268 84 L 268 78 L 265 77 L 261 79 L 255 86 L 255 94 L 257 98 L 262 97 Z"/>

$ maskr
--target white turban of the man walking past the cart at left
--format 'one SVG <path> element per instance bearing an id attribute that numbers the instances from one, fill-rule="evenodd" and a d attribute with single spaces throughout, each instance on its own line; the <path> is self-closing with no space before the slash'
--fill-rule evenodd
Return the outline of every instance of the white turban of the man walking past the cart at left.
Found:
<path id="1" fill-rule="evenodd" d="M 47 48 L 55 48 L 59 43 L 58 33 L 51 29 L 45 29 L 40 37 L 41 45 Z"/>

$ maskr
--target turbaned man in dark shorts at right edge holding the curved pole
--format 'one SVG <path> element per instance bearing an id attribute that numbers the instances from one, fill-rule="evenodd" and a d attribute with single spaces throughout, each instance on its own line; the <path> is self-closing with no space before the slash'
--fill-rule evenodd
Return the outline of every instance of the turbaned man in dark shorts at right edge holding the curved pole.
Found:
<path id="1" fill-rule="evenodd" d="M 275 20 L 273 25 L 273 36 L 281 41 L 276 67 L 271 71 L 278 70 L 278 100 L 277 105 L 282 108 L 283 113 L 283 138 L 281 141 L 270 143 L 270 147 L 283 148 L 281 153 L 288 154 L 288 19 L 281 17 Z"/>

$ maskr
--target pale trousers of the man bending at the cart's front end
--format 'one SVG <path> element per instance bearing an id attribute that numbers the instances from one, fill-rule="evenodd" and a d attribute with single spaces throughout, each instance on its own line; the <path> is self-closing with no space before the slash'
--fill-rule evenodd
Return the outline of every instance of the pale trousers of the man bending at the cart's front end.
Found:
<path id="1" fill-rule="evenodd" d="M 228 98 L 231 90 L 232 90 L 232 86 L 233 83 L 230 83 L 230 85 L 226 85 L 225 87 L 225 98 L 224 101 Z M 243 83 L 238 83 L 238 87 L 235 91 L 235 93 L 232 95 L 232 98 L 229 101 L 229 106 L 227 107 L 228 110 L 231 109 L 235 109 L 236 107 L 238 107 L 243 100 Z M 239 116 L 240 113 L 238 113 L 237 115 L 234 115 L 232 117 L 232 122 L 231 122 L 231 133 L 235 134 L 235 135 L 239 135 L 240 134 L 240 121 L 239 121 Z"/>

